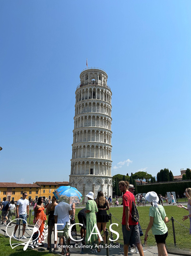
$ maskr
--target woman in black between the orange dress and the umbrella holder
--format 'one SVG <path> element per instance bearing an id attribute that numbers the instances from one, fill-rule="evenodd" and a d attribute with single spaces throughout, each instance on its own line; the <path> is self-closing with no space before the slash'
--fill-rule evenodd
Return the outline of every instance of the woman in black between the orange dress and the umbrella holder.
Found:
<path id="1" fill-rule="evenodd" d="M 48 218 L 48 247 L 47 247 L 47 250 L 49 250 L 49 248 L 50 248 L 50 234 L 52 233 L 52 228 L 55 224 L 54 209 L 55 209 L 56 205 L 58 205 L 57 202 L 56 202 L 56 197 L 53 196 L 52 197 L 52 203 L 49 204 L 46 207 L 46 215 L 49 215 L 49 218 Z M 56 241 L 54 243 L 56 244 Z M 54 248 L 54 251 L 56 251 L 56 250 L 58 250 L 57 247 Z"/>

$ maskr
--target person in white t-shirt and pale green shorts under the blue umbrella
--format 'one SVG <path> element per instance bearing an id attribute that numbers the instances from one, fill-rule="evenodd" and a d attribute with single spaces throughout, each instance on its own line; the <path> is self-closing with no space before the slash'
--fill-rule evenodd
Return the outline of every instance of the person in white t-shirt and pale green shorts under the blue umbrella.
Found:
<path id="1" fill-rule="evenodd" d="M 65 202 L 60 202 L 57 206 L 55 206 L 54 209 L 54 220 L 55 224 L 58 225 L 58 236 L 59 236 L 59 242 L 60 245 L 63 245 L 63 236 L 67 239 L 67 244 L 69 245 L 69 225 L 70 225 L 70 217 L 69 215 L 72 215 L 72 208 L 71 205 L 68 205 Z M 54 248 L 54 251 L 56 251 L 57 248 Z M 64 249 L 62 247 L 62 253 L 64 252 Z M 67 247 L 67 252 L 69 253 L 69 248 Z"/>

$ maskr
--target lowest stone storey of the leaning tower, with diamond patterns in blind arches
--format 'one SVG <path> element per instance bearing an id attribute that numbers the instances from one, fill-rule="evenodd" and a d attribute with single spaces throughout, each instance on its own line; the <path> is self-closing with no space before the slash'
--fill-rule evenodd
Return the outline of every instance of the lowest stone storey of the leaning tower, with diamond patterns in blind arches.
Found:
<path id="1" fill-rule="evenodd" d="M 98 191 L 102 191 L 105 197 L 112 197 L 113 195 L 112 176 L 70 175 L 69 185 L 76 187 L 83 195 L 82 202 L 87 202 L 86 195 L 90 191 L 94 193 L 94 197 L 97 197 Z"/>

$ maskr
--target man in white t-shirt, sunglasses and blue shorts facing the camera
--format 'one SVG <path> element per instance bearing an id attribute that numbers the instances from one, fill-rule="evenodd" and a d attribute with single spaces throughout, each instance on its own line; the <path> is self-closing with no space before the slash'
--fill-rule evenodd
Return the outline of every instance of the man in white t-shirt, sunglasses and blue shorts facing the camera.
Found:
<path id="1" fill-rule="evenodd" d="M 29 217 L 29 200 L 26 199 L 27 192 L 23 193 L 23 197 L 17 201 L 17 208 L 16 208 L 16 218 L 23 219 L 23 236 L 21 239 L 27 239 L 26 236 L 24 236 L 24 231 L 26 228 L 27 218 Z M 16 237 L 16 231 L 19 225 L 19 220 L 17 220 L 15 228 L 14 228 L 14 238 Z"/>

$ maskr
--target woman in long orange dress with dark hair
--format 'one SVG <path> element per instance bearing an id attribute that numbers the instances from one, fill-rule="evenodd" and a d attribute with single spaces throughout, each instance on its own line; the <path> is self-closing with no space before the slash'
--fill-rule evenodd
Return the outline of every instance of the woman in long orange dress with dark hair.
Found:
<path id="1" fill-rule="evenodd" d="M 44 212 L 45 208 L 44 208 L 43 201 L 44 201 L 43 197 L 39 197 L 38 201 L 37 201 L 37 204 L 36 204 L 36 207 L 35 207 L 35 210 L 34 210 L 34 222 L 35 222 L 35 224 L 36 224 L 37 220 L 39 220 L 39 219 L 41 220 L 41 226 L 39 228 L 39 231 L 40 231 L 40 236 L 39 236 L 39 241 L 38 241 L 39 243 L 41 241 L 44 242 L 44 235 L 42 235 L 42 232 L 44 230 L 44 222 L 45 222 L 45 220 L 47 220 L 46 214 Z M 39 246 L 43 247 L 44 243 L 42 243 Z"/>

